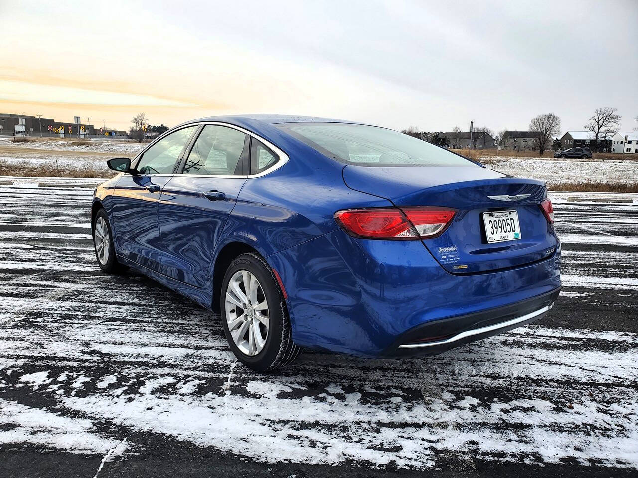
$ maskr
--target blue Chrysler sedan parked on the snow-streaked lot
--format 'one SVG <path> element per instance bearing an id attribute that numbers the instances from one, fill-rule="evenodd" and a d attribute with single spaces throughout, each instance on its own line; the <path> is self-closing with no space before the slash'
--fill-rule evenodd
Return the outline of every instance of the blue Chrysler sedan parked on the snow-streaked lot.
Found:
<path id="1" fill-rule="evenodd" d="M 95 191 L 100 268 L 221 314 L 260 372 L 302 350 L 435 354 L 545 315 L 560 242 L 545 184 L 353 122 L 209 117 Z"/>

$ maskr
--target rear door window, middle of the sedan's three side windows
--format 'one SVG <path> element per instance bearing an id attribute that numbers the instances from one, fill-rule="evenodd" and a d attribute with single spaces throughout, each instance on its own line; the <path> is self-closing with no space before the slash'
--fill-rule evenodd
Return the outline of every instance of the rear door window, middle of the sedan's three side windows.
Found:
<path id="1" fill-rule="evenodd" d="M 232 176 L 241 168 L 246 134 L 224 126 L 205 126 L 188 155 L 184 174 Z"/>

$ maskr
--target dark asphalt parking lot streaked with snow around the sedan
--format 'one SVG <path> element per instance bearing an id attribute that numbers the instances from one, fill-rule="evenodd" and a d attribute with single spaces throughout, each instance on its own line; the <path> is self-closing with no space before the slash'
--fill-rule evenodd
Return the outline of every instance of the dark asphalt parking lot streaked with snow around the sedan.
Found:
<path id="1" fill-rule="evenodd" d="M 0 185 L 0 476 L 636 476 L 638 201 L 555 203 L 563 292 L 440 356 L 235 361 L 93 253 L 90 189 Z"/>

